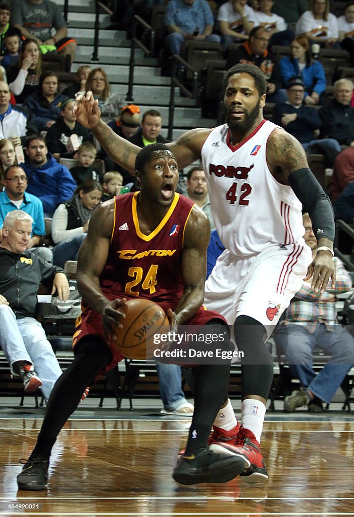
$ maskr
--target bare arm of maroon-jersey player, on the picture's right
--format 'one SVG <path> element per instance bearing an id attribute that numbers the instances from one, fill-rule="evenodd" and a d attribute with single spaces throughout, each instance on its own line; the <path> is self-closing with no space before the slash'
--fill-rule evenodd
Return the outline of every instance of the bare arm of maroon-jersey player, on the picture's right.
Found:
<path id="1" fill-rule="evenodd" d="M 177 325 L 188 321 L 203 303 L 209 240 L 209 220 L 203 210 L 194 205 L 184 231 L 181 263 L 184 291 L 175 309 Z"/>

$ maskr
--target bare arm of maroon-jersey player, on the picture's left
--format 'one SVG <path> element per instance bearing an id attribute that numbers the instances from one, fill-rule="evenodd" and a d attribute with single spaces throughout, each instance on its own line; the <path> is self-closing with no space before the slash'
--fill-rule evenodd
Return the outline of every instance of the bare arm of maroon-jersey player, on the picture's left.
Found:
<path id="1" fill-rule="evenodd" d="M 121 317 L 119 307 L 126 298 L 110 301 L 102 293 L 99 277 L 107 261 L 114 222 L 114 200 L 99 205 L 90 218 L 88 233 L 80 248 L 76 280 L 81 296 L 89 307 L 102 314 L 106 334 L 113 329 Z"/>

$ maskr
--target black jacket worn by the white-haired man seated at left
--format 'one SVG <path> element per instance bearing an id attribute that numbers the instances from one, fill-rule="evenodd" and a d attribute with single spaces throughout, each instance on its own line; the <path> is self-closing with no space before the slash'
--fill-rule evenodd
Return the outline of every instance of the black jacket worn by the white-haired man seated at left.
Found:
<path id="1" fill-rule="evenodd" d="M 17 318 L 36 316 L 39 284 L 50 287 L 56 273 L 64 270 L 30 251 L 16 254 L 0 247 L 0 294 Z"/>

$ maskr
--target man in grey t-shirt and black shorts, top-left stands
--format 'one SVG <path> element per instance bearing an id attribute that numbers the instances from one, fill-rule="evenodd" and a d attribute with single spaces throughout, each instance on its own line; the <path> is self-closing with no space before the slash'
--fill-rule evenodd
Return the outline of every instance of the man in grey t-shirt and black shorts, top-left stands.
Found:
<path id="1" fill-rule="evenodd" d="M 54 45 L 63 55 L 74 60 L 76 41 L 68 38 L 68 28 L 61 7 L 51 0 L 23 0 L 12 5 L 11 23 L 27 39 L 38 45 Z M 55 31 L 52 35 L 52 31 Z"/>

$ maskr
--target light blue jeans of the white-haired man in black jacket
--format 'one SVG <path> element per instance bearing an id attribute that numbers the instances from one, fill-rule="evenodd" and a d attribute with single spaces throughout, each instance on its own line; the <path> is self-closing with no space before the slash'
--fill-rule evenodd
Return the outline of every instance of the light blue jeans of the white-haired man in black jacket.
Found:
<path id="1" fill-rule="evenodd" d="M 42 325 L 32 317 L 16 319 L 8 305 L 0 305 L 0 345 L 12 364 L 28 361 L 42 381 L 41 390 L 47 402 L 61 369 Z"/>

